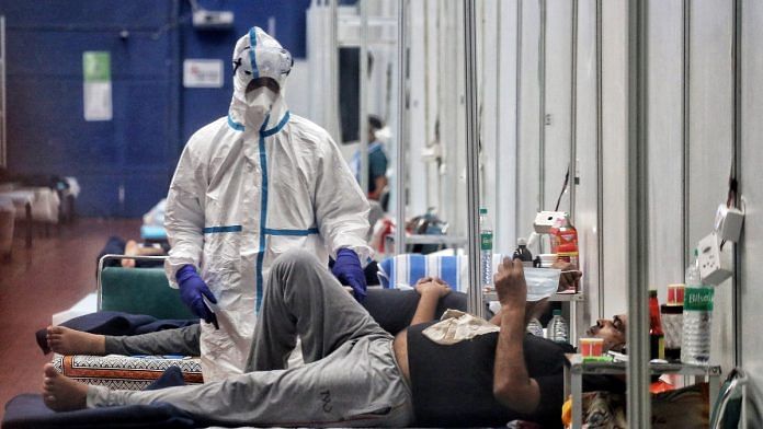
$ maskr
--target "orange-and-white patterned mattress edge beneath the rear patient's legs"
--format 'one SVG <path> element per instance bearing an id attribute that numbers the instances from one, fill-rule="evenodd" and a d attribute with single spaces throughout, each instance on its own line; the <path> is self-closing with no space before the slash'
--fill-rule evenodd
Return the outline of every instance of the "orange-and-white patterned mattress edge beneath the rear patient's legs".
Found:
<path id="1" fill-rule="evenodd" d="M 173 366 L 180 368 L 186 384 L 204 382 L 201 359 L 187 356 L 55 355 L 53 366 L 73 380 L 112 390 L 144 390 Z"/>

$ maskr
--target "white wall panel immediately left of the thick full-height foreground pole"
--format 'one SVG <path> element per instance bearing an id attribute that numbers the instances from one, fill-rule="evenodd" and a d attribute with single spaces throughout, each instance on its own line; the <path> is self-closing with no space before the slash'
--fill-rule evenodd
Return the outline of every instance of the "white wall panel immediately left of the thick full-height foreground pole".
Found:
<path id="1" fill-rule="evenodd" d="M 624 0 L 602 2 L 602 138 L 604 212 L 602 297 L 604 315 L 625 313 L 627 303 L 627 10 Z"/>

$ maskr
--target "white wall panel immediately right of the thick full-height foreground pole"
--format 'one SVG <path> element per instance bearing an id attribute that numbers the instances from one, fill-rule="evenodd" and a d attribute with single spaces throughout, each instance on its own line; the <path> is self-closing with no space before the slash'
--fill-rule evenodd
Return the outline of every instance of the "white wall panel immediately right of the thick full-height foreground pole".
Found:
<path id="1" fill-rule="evenodd" d="M 649 285 L 682 283 L 683 0 L 649 2 Z"/>

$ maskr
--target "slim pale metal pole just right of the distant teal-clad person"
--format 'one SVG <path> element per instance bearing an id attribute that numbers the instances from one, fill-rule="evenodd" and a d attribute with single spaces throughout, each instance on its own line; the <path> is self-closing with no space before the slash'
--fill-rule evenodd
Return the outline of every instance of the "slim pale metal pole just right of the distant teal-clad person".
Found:
<path id="1" fill-rule="evenodd" d="M 408 0 L 398 1 L 398 126 L 397 126 L 397 153 L 395 159 L 395 200 L 397 211 L 397 227 L 395 228 L 395 253 L 406 253 L 406 160 L 405 160 L 405 131 L 406 131 L 406 7 Z"/>

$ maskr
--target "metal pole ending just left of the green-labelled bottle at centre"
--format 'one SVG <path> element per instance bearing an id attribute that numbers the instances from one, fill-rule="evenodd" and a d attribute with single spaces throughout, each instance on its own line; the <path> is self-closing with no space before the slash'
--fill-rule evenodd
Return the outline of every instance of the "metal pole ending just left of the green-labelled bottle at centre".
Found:
<path id="1" fill-rule="evenodd" d="M 479 276 L 479 106 L 477 104 L 477 20 L 475 0 L 464 0 L 464 84 L 466 95 L 466 196 L 469 251 L 468 311 L 482 315 L 482 287 Z"/>

